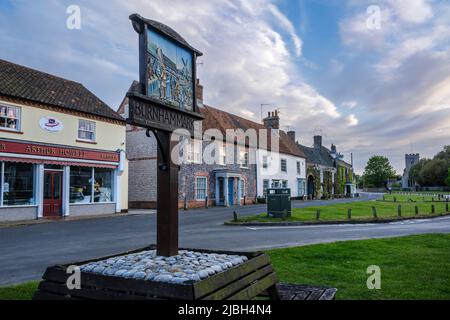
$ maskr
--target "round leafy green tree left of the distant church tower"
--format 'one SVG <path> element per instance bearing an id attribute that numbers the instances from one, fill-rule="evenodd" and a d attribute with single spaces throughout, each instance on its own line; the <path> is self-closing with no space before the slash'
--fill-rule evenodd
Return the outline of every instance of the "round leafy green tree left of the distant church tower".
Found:
<path id="1" fill-rule="evenodd" d="M 364 169 L 364 182 L 366 187 L 381 188 L 388 179 L 395 178 L 396 172 L 383 156 L 372 156 Z"/>

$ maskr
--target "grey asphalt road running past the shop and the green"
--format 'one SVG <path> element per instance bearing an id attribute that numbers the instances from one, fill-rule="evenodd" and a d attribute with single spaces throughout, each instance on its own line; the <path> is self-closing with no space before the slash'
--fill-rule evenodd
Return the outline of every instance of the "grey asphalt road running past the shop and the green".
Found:
<path id="1" fill-rule="evenodd" d="M 376 196 L 368 196 L 374 199 Z M 364 199 L 333 200 L 332 202 Z M 330 202 L 295 202 L 294 207 Z M 224 226 L 233 208 L 180 213 L 180 246 L 255 251 L 368 238 L 424 233 L 450 233 L 450 217 L 390 224 L 295 227 Z M 240 215 L 264 212 L 263 205 L 239 208 Z M 62 221 L 0 229 L 0 286 L 40 279 L 45 268 L 145 247 L 156 241 L 156 215 Z"/>

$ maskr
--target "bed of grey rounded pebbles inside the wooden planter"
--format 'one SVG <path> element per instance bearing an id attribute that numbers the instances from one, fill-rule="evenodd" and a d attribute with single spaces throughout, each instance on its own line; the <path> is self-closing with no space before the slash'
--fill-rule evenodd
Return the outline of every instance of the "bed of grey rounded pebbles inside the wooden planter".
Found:
<path id="1" fill-rule="evenodd" d="M 182 284 L 206 279 L 247 261 L 246 256 L 180 250 L 177 256 L 156 256 L 156 250 L 91 262 L 83 272 L 128 279 Z"/>

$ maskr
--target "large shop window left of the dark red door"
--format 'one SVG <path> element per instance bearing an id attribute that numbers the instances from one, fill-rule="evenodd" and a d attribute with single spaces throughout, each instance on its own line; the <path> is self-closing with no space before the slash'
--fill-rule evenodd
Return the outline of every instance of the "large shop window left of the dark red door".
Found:
<path id="1" fill-rule="evenodd" d="M 3 168 L 3 206 L 34 205 L 32 164 L 5 162 Z"/>

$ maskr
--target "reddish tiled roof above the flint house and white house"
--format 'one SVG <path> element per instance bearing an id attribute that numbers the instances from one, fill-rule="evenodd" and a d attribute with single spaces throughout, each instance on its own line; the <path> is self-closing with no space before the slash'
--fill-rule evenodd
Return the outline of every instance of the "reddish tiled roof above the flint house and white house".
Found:
<path id="1" fill-rule="evenodd" d="M 256 131 L 260 129 L 267 129 L 263 124 L 253 122 L 251 120 L 239 117 L 232 113 L 228 113 L 226 111 L 222 111 L 207 105 L 204 105 L 200 108 L 200 112 L 205 116 L 203 120 L 203 130 L 208 129 L 219 129 L 222 134 L 225 136 L 227 129 L 242 129 L 243 131 L 247 131 L 248 129 L 254 129 Z M 270 130 L 268 130 L 268 138 L 267 144 L 268 149 L 270 150 L 271 139 L 269 138 Z M 279 130 L 280 142 L 279 142 L 279 152 L 282 154 L 289 154 L 296 157 L 305 158 L 305 154 L 300 150 L 296 143 L 291 140 L 288 135 Z"/>

